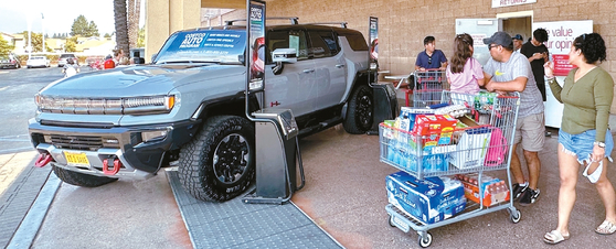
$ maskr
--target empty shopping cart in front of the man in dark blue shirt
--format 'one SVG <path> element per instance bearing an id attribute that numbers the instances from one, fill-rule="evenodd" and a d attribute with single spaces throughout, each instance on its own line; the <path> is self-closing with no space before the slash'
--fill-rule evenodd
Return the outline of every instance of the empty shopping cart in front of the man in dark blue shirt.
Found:
<path id="1" fill-rule="evenodd" d="M 413 107 L 425 108 L 439 104 L 443 90 L 449 90 L 445 71 L 415 71 L 413 88 Z"/>

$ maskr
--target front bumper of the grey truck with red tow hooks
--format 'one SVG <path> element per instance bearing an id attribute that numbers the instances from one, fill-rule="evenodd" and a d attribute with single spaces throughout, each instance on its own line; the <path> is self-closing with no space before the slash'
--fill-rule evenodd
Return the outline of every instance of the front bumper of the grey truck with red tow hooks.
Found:
<path id="1" fill-rule="evenodd" d="M 56 122 L 57 123 L 57 122 Z M 66 170 L 127 180 L 144 180 L 153 176 L 162 166 L 164 153 L 179 149 L 190 141 L 198 128 L 197 121 L 181 121 L 135 127 L 74 127 L 42 124 L 30 120 L 29 132 L 32 144 L 40 153 L 50 153 L 52 165 Z M 141 133 L 166 130 L 164 138 L 142 141 Z M 67 154 L 85 155 L 87 163 L 70 163 Z M 119 172 L 106 175 L 103 161 L 116 158 L 121 162 Z"/>

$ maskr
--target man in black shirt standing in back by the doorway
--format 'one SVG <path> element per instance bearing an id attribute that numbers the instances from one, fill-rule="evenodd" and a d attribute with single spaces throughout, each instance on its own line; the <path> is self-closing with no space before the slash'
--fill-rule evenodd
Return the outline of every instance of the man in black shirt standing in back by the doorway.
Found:
<path id="1" fill-rule="evenodd" d="M 539 91 L 541 91 L 541 97 L 543 97 L 543 102 L 545 104 L 545 80 L 543 79 L 545 72 L 543 69 L 543 64 L 550 61 L 550 52 L 548 52 L 548 47 L 543 45 L 544 42 L 548 42 L 548 31 L 539 28 L 532 32 L 532 40 L 522 45 L 520 53 L 529 58 L 537 87 Z M 551 134 L 550 131 L 545 131 L 545 137 L 550 137 Z"/>

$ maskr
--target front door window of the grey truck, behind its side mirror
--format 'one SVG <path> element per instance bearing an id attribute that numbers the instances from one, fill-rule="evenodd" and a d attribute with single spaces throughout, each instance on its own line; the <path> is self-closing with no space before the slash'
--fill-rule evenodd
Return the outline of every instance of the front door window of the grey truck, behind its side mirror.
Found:
<path id="1" fill-rule="evenodd" d="M 270 31 L 267 35 L 267 47 L 270 52 L 276 48 L 295 48 L 297 59 L 308 58 L 306 33 L 302 30 Z"/>

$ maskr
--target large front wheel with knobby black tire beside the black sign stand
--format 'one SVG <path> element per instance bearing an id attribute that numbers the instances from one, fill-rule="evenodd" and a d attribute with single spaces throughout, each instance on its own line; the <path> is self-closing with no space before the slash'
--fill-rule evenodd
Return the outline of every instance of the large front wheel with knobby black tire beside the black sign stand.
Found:
<path id="1" fill-rule="evenodd" d="M 216 116 L 180 150 L 182 187 L 201 201 L 225 202 L 242 194 L 255 176 L 255 128 L 246 118 Z"/>

